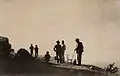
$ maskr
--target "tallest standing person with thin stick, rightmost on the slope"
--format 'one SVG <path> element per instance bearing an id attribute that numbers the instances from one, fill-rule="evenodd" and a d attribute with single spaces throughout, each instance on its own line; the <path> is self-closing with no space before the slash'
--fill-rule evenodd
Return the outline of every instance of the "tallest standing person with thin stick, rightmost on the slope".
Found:
<path id="1" fill-rule="evenodd" d="M 76 38 L 75 41 L 77 43 L 77 47 L 75 48 L 75 51 L 77 53 L 77 61 L 78 61 L 78 65 L 81 66 L 81 57 L 82 57 L 84 47 L 82 42 L 79 41 L 79 38 Z"/>

